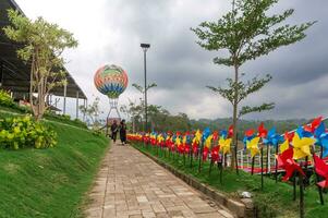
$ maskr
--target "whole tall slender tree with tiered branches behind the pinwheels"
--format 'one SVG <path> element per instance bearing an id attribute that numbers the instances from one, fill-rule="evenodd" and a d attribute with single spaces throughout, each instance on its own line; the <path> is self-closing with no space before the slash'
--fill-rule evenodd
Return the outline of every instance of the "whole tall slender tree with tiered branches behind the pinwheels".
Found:
<path id="1" fill-rule="evenodd" d="M 246 83 L 240 78 L 240 68 L 251 60 L 266 56 L 281 46 L 288 46 L 303 39 L 304 32 L 315 22 L 301 25 L 282 24 L 294 12 L 286 10 L 281 14 L 268 15 L 268 10 L 279 0 L 236 0 L 232 1 L 232 10 L 216 22 L 203 22 L 192 31 L 201 39 L 197 44 L 206 50 L 228 50 L 228 57 L 216 57 L 214 63 L 234 68 L 234 77 L 228 78 L 228 88 L 211 87 L 233 107 L 233 145 L 236 145 L 239 117 L 274 108 L 274 104 L 257 107 L 245 106 L 239 110 L 239 104 L 250 94 L 259 90 L 271 80 L 254 77 Z M 234 150 L 231 167 L 234 168 Z"/>

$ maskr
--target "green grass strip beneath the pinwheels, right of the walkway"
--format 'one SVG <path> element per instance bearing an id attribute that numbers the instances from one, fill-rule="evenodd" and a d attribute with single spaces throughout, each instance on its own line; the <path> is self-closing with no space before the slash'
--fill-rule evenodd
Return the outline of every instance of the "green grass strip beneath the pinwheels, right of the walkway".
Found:
<path id="1" fill-rule="evenodd" d="M 174 160 L 172 156 L 165 156 L 161 150 L 157 156 L 156 148 L 145 148 L 142 145 L 135 145 L 137 149 L 146 152 L 159 160 L 162 160 L 175 169 L 186 174 L 193 175 L 198 181 L 209 184 L 210 186 L 226 193 L 230 197 L 236 198 L 238 192 L 248 191 L 254 195 L 254 202 L 259 209 L 258 217 L 299 217 L 299 190 L 297 199 L 294 202 L 292 185 L 278 182 L 270 178 L 265 178 L 264 190 L 260 189 L 260 175 L 251 175 L 250 173 L 240 170 L 236 175 L 235 171 L 224 170 L 222 173 L 222 183 L 219 180 L 219 170 L 215 166 L 209 175 L 209 164 L 206 162 L 201 173 L 198 173 L 198 160 L 193 161 L 193 168 L 190 167 L 190 159 L 186 157 L 184 165 L 183 157 L 175 155 Z M 299 186 L 297 186 L 299 187 Z M 328 204 L 328 196 L 324 194 L 326 204 Z M 319 204 L 319 196 L 315 185 L 308 186 L 305 190 L 305 217 L 307 218 L 323 218 L 328 215 L 328 206 Z"/>

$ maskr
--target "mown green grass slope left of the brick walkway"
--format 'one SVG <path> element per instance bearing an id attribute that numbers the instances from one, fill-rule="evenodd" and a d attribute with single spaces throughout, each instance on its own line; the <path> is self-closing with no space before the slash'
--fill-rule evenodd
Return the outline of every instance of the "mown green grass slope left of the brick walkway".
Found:
<path id="1" fill-rule="evenodd" d="M 47 125 L 58 132 L 57 147 L 0 149 L 0 217 L 80 216 L 108 141 L 75 126 Z"/>

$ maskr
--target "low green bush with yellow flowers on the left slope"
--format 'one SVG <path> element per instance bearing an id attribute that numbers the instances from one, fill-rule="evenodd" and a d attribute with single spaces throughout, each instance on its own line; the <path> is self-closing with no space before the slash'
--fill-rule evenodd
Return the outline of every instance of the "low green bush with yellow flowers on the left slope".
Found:
<path id="1" fill-rule="evenodd" d="M 57 144 L 57 134 L 29 117 L 0 120 L 0 144 L 3 148 L 48 148 Z"/>

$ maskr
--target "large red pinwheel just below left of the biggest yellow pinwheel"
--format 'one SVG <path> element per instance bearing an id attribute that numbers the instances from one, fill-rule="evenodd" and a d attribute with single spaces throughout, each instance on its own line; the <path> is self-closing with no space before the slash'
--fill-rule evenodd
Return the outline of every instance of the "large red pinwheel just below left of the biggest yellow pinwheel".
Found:
<path id="1" fill-rule="evenodd" d="M 294 171 L 299 171 L 300 173 L 305 175 L 300 165 L 293 159 L 293 155 L 294 150 L 291 147 L 284 150 L 281 155 L 277 156 L 278 166 L 286 170 L 286 174 L 282 178 L 282 181 L 288 181 L 293 175 Z"/>

